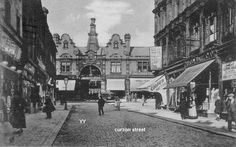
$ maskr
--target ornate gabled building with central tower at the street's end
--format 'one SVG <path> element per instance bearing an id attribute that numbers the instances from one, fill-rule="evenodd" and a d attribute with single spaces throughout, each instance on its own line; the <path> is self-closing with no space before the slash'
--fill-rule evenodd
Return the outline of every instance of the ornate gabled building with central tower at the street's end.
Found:
<path id="1" fill-rule="evenodd" d="M 138 92 L 137 87 L 153 77 L 149 72 L 149 47 L 130 46 L 130 34 L 125 34 L 124 40 L 113 34 L 107 45 L 101 47 L 97 36 L 94 18 L 86 47 L 75 46 L 68 34 L 53 35 L 58 50 L 57 86 L 61 96 L 66 93 L 67 98 L 96 99 L 98 93 L 113 92 L 123 97 Z"/>

